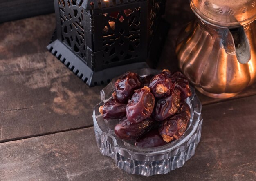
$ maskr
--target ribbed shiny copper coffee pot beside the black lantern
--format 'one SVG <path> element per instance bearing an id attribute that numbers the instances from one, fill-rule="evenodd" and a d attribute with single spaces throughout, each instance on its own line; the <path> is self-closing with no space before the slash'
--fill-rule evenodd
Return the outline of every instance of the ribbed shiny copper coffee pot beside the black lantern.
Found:
<path id="1" fill-rule="evenodd" d="M 180 34 L 179 67 L 201 93 L 237 95 L 256 80 L 256 0 L 190 0 L 197 16 Z"/>

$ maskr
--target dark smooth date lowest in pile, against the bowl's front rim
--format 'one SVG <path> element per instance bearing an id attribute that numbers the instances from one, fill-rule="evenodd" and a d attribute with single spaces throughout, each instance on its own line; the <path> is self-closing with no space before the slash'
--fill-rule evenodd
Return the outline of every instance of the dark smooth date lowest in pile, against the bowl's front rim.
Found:
<path id="1" fill-rule="evenodd" d="M 166 141 L 164 141 L 161 135 L 159 135 L 158 128 L 150 130 L 135 141 L 135 146 L 144 148 L 163 146 L 166 144 Z"/>

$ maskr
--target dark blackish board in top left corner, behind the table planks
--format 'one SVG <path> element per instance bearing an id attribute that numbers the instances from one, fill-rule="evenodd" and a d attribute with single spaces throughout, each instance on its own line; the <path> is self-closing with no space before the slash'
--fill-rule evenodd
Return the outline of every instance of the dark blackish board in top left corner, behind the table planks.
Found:
<path id="1" fill-rule="evenodd" d="M 53 0 L 0 1 L 0 23 L 53 12 Z"/>

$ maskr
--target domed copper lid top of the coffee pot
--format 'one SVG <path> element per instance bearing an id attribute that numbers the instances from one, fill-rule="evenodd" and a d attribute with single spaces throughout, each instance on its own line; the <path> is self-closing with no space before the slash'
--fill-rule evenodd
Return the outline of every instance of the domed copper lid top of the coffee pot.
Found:
<path id="1" fill-rule="evenodd" d="M 256 20 L 256 0 L 190 0 L 194 13 L 221 27 L 244 26 Z"/>

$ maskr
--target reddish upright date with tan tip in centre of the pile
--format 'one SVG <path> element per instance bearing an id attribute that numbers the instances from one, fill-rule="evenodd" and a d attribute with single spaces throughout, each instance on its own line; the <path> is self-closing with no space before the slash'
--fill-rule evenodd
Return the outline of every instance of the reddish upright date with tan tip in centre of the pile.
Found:
<path id="1" fill-rule="evenodd" d="M 126 117 L 132 123 L 139 123 L 150 117 L 155 106 L 155 97 L 150 88 L 144 86 L 135 91 L 126 106 Z"/>

